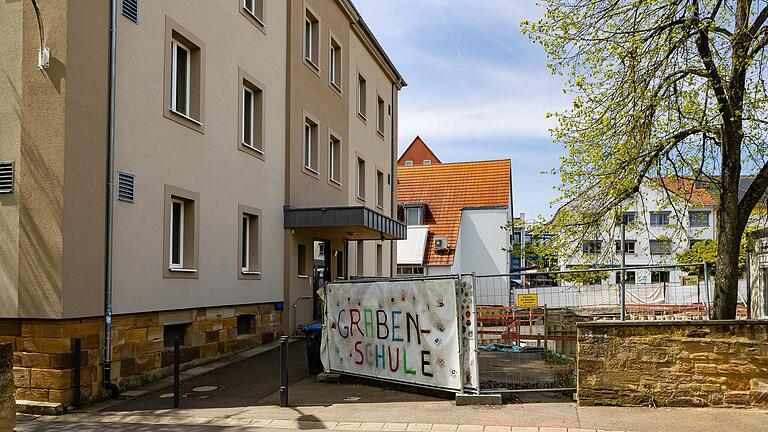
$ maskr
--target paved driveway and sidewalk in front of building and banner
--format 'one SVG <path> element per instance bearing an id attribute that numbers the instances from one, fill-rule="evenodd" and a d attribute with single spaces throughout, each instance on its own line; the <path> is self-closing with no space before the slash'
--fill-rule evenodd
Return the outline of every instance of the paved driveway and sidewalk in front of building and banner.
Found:
<path id="1" fill-rule="evenodd" d="M 166 388 L 93 407 L 97 412 L 20 417 L 17 430 L 722 432 L 765 431 L 768 424 L 767 411 L 577 407 L 567 395 L 555 393 L 521 394 L 517 403 L 503 406 L 455 406 L 452 400 L 376 386 L 316 383 L 306 376 L 303 345 L 291 348 L 290 408 L 278 406 L 277 353 L 270 351 L 185 380 L 181 409 L 170 408 Z"/>

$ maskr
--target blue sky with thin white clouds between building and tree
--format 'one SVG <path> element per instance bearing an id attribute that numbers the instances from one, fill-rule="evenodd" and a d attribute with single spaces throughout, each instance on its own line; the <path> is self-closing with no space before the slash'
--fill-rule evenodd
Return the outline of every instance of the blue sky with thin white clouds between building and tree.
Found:
<path id="1" fill-rule="evenodd" d="M 568 106 L 540 46 L 520 22 L 535 0 L 355 0 L 408 82 L 400 151 L 420 135 L 444 162 L 512 159 L 516 214 L 551 216 L 561 147 L 548 111 Z"/>

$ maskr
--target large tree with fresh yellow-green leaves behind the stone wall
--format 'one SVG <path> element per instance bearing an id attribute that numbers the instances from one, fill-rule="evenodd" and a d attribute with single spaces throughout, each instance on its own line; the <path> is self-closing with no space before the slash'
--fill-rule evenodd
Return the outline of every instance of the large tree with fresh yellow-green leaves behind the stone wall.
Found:
<path id="1" fill-rule="evenodd" d="M 556 170 L 570 203 L 554 222 L 560 238 L 584 238 L 649 178 L 704 182 L 719 198 L 714 317 L 735 318 L 740 239 L 768 187 L 768 3 L 542 4 L 523 31 L 573 94 L 552 131 L 567 153 Z"/>

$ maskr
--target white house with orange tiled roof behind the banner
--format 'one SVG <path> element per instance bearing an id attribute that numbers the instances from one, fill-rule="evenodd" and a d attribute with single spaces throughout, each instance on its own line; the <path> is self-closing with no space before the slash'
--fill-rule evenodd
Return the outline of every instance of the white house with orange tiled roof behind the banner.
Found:
<path id="1" fill-rule="evenodd" d="M 428 156 L 435 162 L 404 159 Z M 398 274 L 509 272 L 502 226 L 512 214 L 511 161 L 443 163 L 416 137 L 400 162 L 397 201 L 408 235 L 398 241 Z"/>

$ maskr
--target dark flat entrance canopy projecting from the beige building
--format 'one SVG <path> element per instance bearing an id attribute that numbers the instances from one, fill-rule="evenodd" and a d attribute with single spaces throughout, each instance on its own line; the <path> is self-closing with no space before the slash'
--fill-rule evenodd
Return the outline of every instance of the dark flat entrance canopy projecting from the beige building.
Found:
<path id="1" fill-rule="evenodd" d="M 349 240 L 401 240 L 404 224 L 364 206 L 284 207 L 285 228 L 312 229 L 327 237 Z"/>

